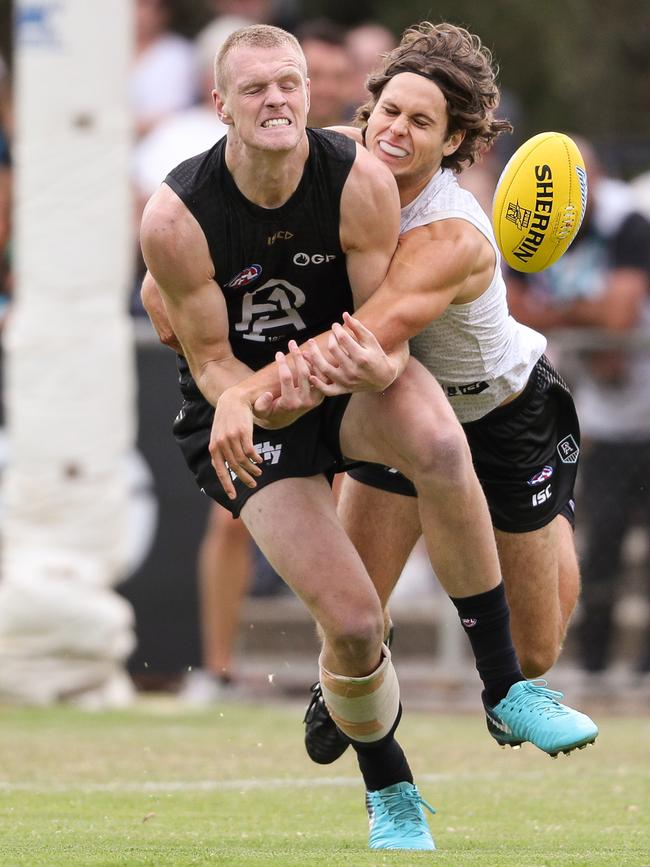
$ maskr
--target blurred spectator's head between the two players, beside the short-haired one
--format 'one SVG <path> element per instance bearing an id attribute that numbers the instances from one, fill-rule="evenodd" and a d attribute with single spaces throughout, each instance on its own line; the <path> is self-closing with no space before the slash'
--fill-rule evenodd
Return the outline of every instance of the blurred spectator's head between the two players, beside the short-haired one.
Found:
<path id="1" fill-rule="evenodd" d="M 311 127 L 336 126 L 350 118 L 352 61 L 345 30 L 326 18 L 306 21 L 296 29 L 311 81 Z"/>

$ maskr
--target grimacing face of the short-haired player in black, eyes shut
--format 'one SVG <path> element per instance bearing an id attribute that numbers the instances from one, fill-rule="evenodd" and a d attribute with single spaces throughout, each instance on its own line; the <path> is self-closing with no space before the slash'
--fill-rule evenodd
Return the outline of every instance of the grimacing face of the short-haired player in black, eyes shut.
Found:
<path id="1" fill-rule="evenodd" d="M 287 151 L 302 140 L 309 110 L 304 63 L 288 45 L 233 48 L 226 58 L 227 87 L 214 92 L 219 116 L 241 142 L 266 151 Z"/>

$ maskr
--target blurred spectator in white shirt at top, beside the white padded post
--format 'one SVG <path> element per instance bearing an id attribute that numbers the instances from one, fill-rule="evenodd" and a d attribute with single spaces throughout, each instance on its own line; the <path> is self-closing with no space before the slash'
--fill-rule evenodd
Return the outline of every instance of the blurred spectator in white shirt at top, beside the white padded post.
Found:
<path id="1" fill-rule="evenodd" d="M 135 64 L 131 105 L 138 137 L 199 97 L 199 77 L 190 40 L 170 28 L 170 0 L 136 0 Z"/>

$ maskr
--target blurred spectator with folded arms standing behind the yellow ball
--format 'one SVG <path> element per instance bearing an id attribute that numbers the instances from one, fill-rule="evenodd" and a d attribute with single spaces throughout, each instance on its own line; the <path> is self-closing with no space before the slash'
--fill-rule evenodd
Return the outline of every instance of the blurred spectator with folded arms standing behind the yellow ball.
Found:
<path id="1" fill-rule="evenodd" d="M 650 519 L 650 350 L 629 340 L 637 330 L 647 340 L 650 329 L 650 223 L 628 185 L 606 177 L 591 145 L 577 141 L 589 178 L 582 228 L 555 265 L 512 273 L 508 290 L 513 316 L 533 328 L 594 328 L 618 338 L 581 355 L 575 383 L 586 441 L 578 639 L 584 669 L 598 673 L 611 659 L 625 535 Z M 650 671 L 650 641 L 639 668 Z"/>

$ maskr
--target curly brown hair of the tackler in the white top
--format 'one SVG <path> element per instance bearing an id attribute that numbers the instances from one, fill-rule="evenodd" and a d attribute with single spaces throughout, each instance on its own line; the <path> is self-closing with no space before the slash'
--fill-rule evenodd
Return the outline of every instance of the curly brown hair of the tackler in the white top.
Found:
<path id="1" fill-rule="evenodd" d="M 437 84 L 447 103 L 447 135 L 465 132 L 458 149 L 443 157 L 443 168 L 461 172 L 489 150 L 501 133 L 512 131 L 509 121 L 494 117 L 500 94 L 496 84 L 498 67 L 492 62 L 492 53 L 478 36 L 464 28 L 423 21 L 404 32 L 397 48 L 368 77 L 366 87 L 371 99 L 355 116 L 364 129 L 384 87 L 401 72 L 414 72 Z"/>

